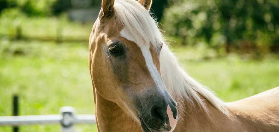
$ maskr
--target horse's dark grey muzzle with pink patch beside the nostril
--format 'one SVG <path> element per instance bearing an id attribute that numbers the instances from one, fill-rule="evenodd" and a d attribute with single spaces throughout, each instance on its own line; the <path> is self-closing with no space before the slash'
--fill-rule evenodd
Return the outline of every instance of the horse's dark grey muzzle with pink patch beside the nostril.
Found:
<path id="1" fill-rule="evenodd" d="M 174 130 L 177 123 L 177 104 L 171 97 L 152 96 L 141 101 L 141 106 L 139 119 L 144 132 Z"/>

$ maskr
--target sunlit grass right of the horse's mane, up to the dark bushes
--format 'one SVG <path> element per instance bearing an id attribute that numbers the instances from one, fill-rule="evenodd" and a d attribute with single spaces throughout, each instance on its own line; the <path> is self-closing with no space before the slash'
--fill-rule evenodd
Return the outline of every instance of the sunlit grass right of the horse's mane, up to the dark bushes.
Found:
<path id="1" fill-rule="evenodd" d="M 248 55 L 233 53 L 216 58 L 214 51 L 204 48 L 175 47 L 174 52 L 189 75 L 226 102 L 279 86 L 278 55 L 268 54 L 261 60 L 253 60 Z"/>

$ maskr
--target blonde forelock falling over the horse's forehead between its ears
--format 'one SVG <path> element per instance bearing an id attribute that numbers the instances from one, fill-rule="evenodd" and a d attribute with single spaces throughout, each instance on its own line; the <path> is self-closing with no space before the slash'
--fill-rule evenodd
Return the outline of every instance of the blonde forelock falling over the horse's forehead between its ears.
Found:
<path id="1" fill-rule="evenodd" d="M 165 43 L 157 22 L 135 0 L 115 0 L 116 22 L 129 31 L 138 45 L 152 44 L 156 49 Z"/>

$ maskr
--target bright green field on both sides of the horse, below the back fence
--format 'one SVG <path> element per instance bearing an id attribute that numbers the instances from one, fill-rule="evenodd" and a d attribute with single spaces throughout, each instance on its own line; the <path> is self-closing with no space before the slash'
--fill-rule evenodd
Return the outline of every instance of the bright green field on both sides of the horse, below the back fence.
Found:
<path id="1" fill-rule="evenodd" d="M 174 51 L 185 70 L 224 101 L 279 86 L 275 55 L 251 60 L 235 54 L 214 57 L 208 49 L 174 47 Z M 20 115 L 59 114 L 62 106 L 75 107 L 77 114 L 94 114 L 88 43 L 0 40 L 0 116 L 12 115 L 14 94 L 19 95 Z M 60 125 L 20 127 L 24 132 L 59 129 Z M 1 126 L 0 131 L 12 128 Z M 96 126 L 76 125 L 76 131 L 96 131 Z"/>

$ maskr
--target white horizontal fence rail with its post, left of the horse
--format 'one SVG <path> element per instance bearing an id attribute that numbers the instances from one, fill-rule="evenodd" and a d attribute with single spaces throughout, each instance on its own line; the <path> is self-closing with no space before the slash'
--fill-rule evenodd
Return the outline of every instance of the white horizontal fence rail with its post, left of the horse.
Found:
<path id="1" fill-rule="evenodd" d="M 74 132 L 74 124 L 95 124 L 95 115 L 76 115 L 76 110 L 71 106 L 59 109 L 58 115 L 31 115 L 31 116 L 0 116 L 0 126 L 21 126 L 32 124 L 59 124 L 62 132 Z"/>

